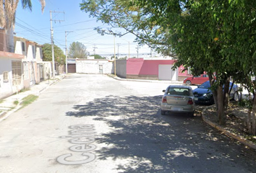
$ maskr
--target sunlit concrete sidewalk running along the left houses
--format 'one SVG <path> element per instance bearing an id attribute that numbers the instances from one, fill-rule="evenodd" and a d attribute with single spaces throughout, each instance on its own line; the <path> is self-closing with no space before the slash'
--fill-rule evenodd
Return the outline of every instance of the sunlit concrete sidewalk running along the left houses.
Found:
<path id="1" fill-rule="evenodd" d="M 38 96 L 49 86 L 55 84 L 59 80 L 63 79 L 65 76 L 66 74 L 60 74 L 58 76 L 55 76 L 55 80 L 50 79 L 46 81 L 41 81 L 39 84 L 31 86 L 30 89 L 25 92 L 19 92 L 18 94 L 13 94 L 12 96 L 2 99 L 0 103 L 0 122 L 9 117 L 9 115 L 11 115 L 16 110 L 20 109 L 20 102 L 22 102 L 23 98 L 27 97 L 30 94 Z M 17 105 L 14 104 L 15 101 L 18 102 Z"/>

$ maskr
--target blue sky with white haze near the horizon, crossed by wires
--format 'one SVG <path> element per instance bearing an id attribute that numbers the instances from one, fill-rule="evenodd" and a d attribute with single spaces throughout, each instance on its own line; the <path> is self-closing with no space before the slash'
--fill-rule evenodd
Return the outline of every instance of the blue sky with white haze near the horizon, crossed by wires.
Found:
<path id="1" fill-rule="evenodd" d="M 17 37 L 24 37 L 40 45 L 51 43 L 51 17 L 54 29 L 54 44 L 58 45 L 65 53 L 65 31 L 67 31 L 67 48 L 73 42 L 80 42 L 87 48 L 90 55 L 137 57 L 137 43 L 132 34 L 123 37 L 113 35 L 100 35 L 94 30 L 95 27 L 107 28 L 100 21 L 80 10 L 82 0 L 46 0 L 44 12 L 41 12 L 40 1 L 32 0 L 33 9 L 22 9 L 21 2 L 17 7 L 16 23 L 14 32 Z M 114 44 L 115 42 L 115 44 Z M 150 55 L 147 45 L 139 49 L 139 58 Z"/>

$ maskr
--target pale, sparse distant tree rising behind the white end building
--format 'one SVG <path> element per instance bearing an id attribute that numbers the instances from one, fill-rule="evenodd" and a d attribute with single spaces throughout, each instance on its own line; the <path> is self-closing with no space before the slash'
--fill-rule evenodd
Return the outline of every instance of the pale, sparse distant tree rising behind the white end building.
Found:
<path id="1" fill-rule="evenodd" d="M 85 45 L 80 42 L 73 42 L 69 45 L 69 58 L 87 58 L 88 52 Z"/>

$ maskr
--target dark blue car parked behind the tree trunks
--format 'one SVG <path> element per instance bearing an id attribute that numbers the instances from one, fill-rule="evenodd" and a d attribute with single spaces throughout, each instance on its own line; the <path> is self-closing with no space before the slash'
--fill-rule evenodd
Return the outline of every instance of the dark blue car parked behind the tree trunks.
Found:
<path id="1" fill-rule="evenodd" d="M 232 85 L 232 82 L 229 82 L 229 89 L 231 89 L 231 85 Z M 238 100 L 239 99 L 238 89 L 239 89 L 239 86 L 234 84 L 231 89 L 229 98 Z M 210 81 L 205 81 L 197 89 L 194 89 L 193 94 L 195 97 L 197 97 L 197 100 L 195 101 L 195 103 L 205 103 L 210 105 L 214 104 L 213 92 L 210 90 Z"/>

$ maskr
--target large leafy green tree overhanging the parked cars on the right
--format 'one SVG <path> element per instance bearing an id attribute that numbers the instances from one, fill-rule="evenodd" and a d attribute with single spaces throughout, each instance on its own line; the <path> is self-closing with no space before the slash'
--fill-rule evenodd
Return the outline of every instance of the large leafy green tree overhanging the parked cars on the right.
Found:
<path id="1" fill-rule="evenodd" d="M 193 74 L 207 71 L 219 123 L 223 124 L 229 76 L 240 73 L 242 79 L 250 79 L 249 75 L 255 74 L 251 63 L 256 57 L 255 5 L 249 0 L 83 0 L 80 7 L 111 26 L 107 31 L 97 28 L 101 34 L 124 35 L 114 32 L 122 27 L 136 35 L 140 44 L 175 57 L 176 67 L 190 66 Z M 255 117 L 255 112 L 252 114 Z"/>

